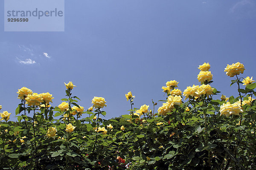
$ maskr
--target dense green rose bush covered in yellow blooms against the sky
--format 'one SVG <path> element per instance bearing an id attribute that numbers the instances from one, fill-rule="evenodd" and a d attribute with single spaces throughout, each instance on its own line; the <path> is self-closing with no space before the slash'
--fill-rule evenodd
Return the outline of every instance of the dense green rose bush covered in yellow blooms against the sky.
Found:
<path id="1" fill-rule="evenodd" d="M 227 76 L 237 95 L 218 95 L 209 63 L 199 65 L 199 82 L 183 91 L 171 80 L 163 86 L 166 99 L 160 107 L 131 107 L 122 118 L 102 119 L 103 97 L 94 97 L 87 111 L 73 96 L 73 82 L 65 83 L 66 98 L 58 107 L 52 95 L 18 90 L 21 103 L 11 113 L 0 113 L 0 167 L 17 170 L 148 170 L 256 168 L 256 83 L 239 78 L 244 65 L 227 65 Z M 205 72 L 205 74 L 204 74 Z M 240 85 L 244 88 L 241 88 Z M 72 93 L 71 93 L 72 91 Z M 182 99 L 184 98 L 184 99 Z M 59 102 L 60 103 L 60 102 Z M 4 106 L 3 106 L 4 107 Z M 2 108 L 2 107 L 1 107 Z M 94 109 L 94 110 L 93 110 Z M 156 112 L 157 110 L 157 112 Z M 85 118 L 81 119 L 81 115 Z"/>

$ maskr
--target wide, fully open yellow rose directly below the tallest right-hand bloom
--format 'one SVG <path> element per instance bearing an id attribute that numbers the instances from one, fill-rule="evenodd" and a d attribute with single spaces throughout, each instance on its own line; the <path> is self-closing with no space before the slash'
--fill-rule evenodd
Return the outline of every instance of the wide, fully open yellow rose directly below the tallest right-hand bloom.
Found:
<path id="1" fill-rule="evenodd" d="M 232 114 L 239 116 L 239 113 L 242 113 L 242 112 L 243 110 L 240 105 L 238 105 L 237 103 L 230 104 L 230 102 L 227 102 L 227 104 L 223 103 L 220 109 L 221 115 L 225 115 L 226 117 Z"/>

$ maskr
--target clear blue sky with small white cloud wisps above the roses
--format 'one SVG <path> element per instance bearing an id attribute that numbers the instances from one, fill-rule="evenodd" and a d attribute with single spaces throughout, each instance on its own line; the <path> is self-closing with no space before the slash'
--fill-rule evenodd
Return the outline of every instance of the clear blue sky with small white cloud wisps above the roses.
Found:
<path id="1" fill-rule="evenodd" d="M 64 32 L 4 32 L 3 20 L 0 105 L 11 120 L 17 120 L 16 92 L 23 86 L 49 92 L 58 106 L 64 82 L 72 81 L 79 105 L 87 109 L 94 96 L 104 97 L 110 119 L 128 113 L 129 91 L 134 107 L 152 108 L 151 99 L 165 99 L 167 81 L 177 80 L 182 91 L 199 85 L 204 62 L 211 65 L 212 87 L 226 96 L 237 96 L 227 64 L 243 63 L 242 77 L 256 79 L 253 0 L 66 0 Z"/>

